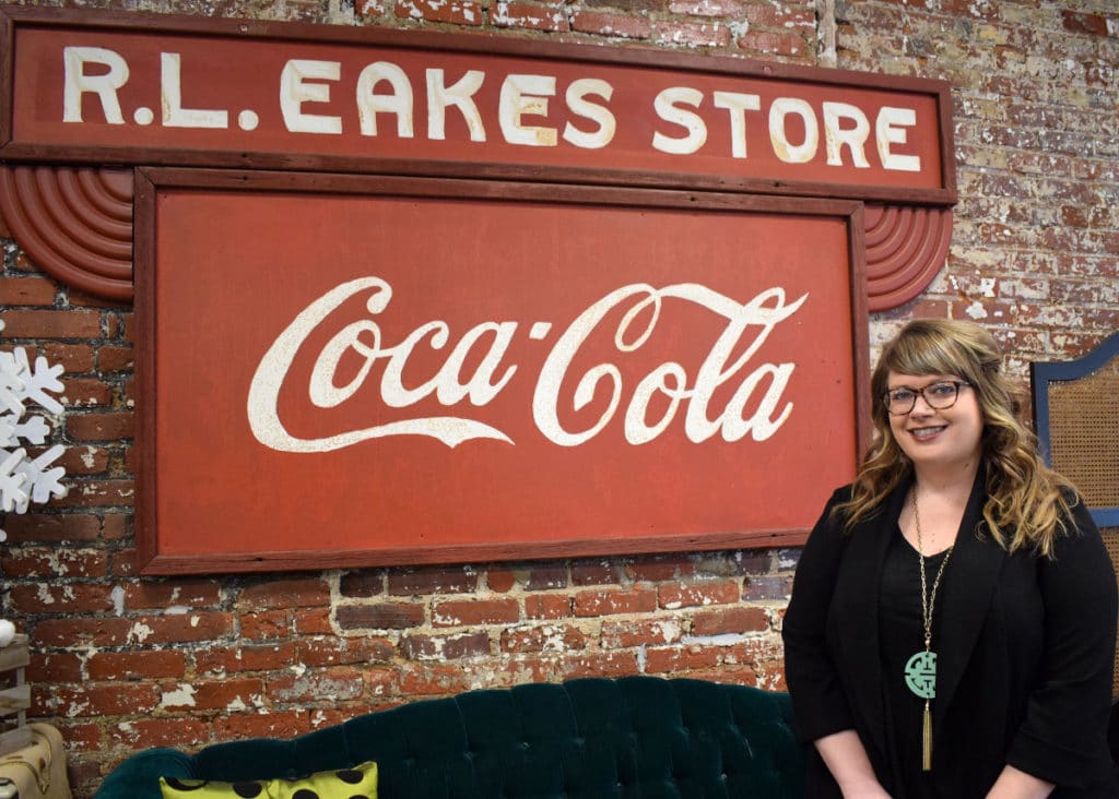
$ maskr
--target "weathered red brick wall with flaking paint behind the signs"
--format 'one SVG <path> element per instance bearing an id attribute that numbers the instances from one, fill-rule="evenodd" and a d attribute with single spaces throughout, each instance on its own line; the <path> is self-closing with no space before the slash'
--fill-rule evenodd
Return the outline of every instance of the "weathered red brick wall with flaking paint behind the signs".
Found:
<path id="1" fill-rule="evenodd" d="M 36 3 L 62 4 L 62 3 Z M 990 325 L 1031 360 L 1119 330 L 1119 12 L 1113 0 L 332 0 L 81 6 L 685 48 L 940 77 L 960 203 L 930 289 L 869 320 Z M 3 234 L 4 346 L 65 365 L 70 493 L 10 515 L 3 615 L 30 634 L 34 715 L 76 796 L 129 752 L 291 735 L 417 696 L 633 673 L 782 687 L 796 551 L 220 578 L 133 573 L 130 307 L 60 286 Z"/>

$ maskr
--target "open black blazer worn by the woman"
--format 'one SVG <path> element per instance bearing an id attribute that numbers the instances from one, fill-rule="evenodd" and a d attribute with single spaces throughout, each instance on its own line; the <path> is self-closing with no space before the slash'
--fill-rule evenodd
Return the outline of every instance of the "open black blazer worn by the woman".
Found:
<path id="1" fill-rule="evenodd" d="M 1055 782 L 1053 799 L 1119 797 L 1107 746 L 1117 590 L 1083 503 L 1055 558 L 1008 554 L 986 533 L 977 476 L 940 597 L 933 771 L 949 796 L 984 797 L 1007 763 Z M 911 483 L 849 534 L 831 507 L 800 555 L 784 617 L 786 681 L 806 741 L 854 729 L 899 797 L 878 646 L 878 583 Z M 807 796 L 839 797 L 815 748 Z"/>

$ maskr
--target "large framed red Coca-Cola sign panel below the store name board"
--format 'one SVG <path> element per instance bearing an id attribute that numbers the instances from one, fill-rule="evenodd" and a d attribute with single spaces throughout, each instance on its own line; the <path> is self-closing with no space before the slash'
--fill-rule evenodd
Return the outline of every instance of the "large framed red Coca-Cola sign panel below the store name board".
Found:
<path id="1" fill-rule="evenodd" d="M 861 213 L 141 173 L 147 571 L 802 540 L 865 416 Z"/>

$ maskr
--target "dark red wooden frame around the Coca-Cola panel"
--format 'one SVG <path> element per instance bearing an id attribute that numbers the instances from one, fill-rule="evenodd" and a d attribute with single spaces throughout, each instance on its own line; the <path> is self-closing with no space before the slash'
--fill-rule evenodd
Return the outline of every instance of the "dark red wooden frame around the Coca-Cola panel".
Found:
<path id="1" fill-rule="evenodd" d="M 865 448 L 869 436 L 869 406 L 867 393 L 868 344 L 866 333 L 866 297 L 864 288 L 863 203 L 849 200 L 817 200 L 782 197 L 758 197 L 714 192 L 629 189 L 596 186 L 554 183 L 460 181 L 422 178 L 375 178 L 369 175 L 337 175 L 314 173 L 232 172 L 184 169 L 137 170 L 137 330 L 138 346 L 135 375 L 138 387 L 137 415 L 137 544 L 138 569 L 144 574 L 182 574 L 216 572 L 251 572 L 278 570 L 322 570 L 375 565 L 420 563 L 463 563 L 510 560 L 534 560 L 567 557 L 596 557 L 636 554 L 640 552 L 675 552 L 720 549 L 752 549 L 767 546 L 794 546 L 802 544 L 807 529 L 753 530 L 709 534 L 660 535 L 637 541 L 634 539 L 585 539 L 518 543 L 477 543 L 457 546 L 441 545 L 420 549 L 355 550 L 299 550 L 260 551 L 252 553 L 197 553 L 169 555 L 160 548 L 160 520 L 156 497 L 160 475 L 156 468 L 157 440 L 156 396 L 157 370 L 170 368 L 154 362 L 153 342 L 159 335 L 156 308 L 157 275 L 156 204 L 161 188 L 199 188 L 208 190 L 253 190 L 274 192 L 355 193 L 415 197 L 493 198 L 532 201 L 640 204 L 660 208 L 709 209 L 721 211 L 790 213 L 838 218 L 847 229 L 849 259 L 852 364 L 854 369 L 853 406 L 855 418 L 850 424 L 857 431 L 859 449 Z M 841 424 L 829 419 L 829 424 Z M 858 453 L 861 454 L 861 453 Z M 857 455 L 858 455 L 857 454 Z M 854 470 L 855 464 L 852 464 Z"/>

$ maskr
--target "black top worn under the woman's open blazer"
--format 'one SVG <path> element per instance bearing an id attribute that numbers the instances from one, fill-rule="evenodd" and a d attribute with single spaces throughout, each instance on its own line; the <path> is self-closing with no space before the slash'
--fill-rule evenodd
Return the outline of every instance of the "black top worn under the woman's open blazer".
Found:
<path id="1" fill-rule="evenodd" d="M 925 584 L 930 595 L 937 572 L 947 557 L 948 551 L 944 550 L 924 559 Z M 949 560 L 932 606 L 932 651 L 937 651 L 938 641 L 943 640 L 941 625 L 944 621 L 940 609 L 943 607 L 944 583 L 951 579 L 951 571 Z M 924 620 L 921 613 L 920 558 L 899 530 L 886 551 L 878 590 L 878 630 L 885 677 L 883 689 L 891 716 L 892 754 L 902 783 L 895 799 L 949 799 L 947 789 L 937 790 L 939 772 L 921 769 L 924 700 L 905 685 L 905 664 L 915 653 L 924 651 Z"/>

